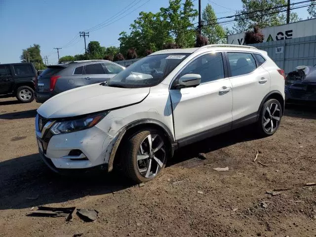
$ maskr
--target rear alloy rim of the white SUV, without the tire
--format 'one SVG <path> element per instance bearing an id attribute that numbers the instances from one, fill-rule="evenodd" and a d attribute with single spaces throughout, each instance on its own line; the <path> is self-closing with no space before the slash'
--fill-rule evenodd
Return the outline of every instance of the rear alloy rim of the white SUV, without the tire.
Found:
<path id="1" fill-rule="evenodd" d="M 271 103 L 267 106 L 263 115 L 263 127 L 268 133 L 276 130 L 281 119 L 280 108 L 276 103 Z"/>

